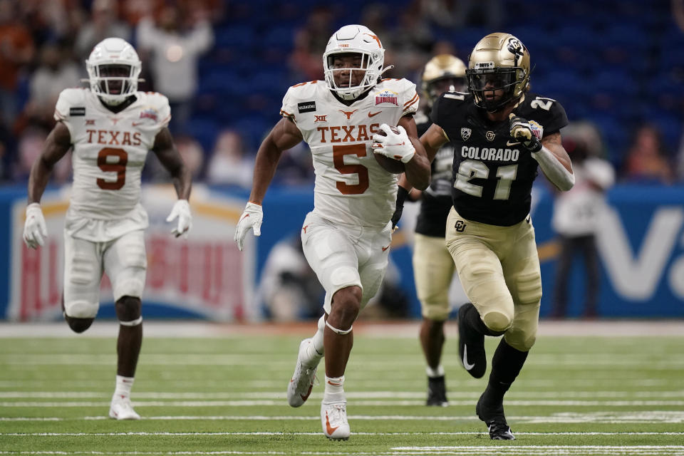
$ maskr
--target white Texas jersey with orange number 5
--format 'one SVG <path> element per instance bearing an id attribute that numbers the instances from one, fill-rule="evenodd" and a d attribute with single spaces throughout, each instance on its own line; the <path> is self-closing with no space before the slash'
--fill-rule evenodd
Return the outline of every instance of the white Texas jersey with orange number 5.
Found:
<path id="1" fill-rule="evenodd" d="M 375 161 L 373 134 L 380 124 L 397 125 L 416 109 L 418 93 L 406 79 L 383 79 L 350 106 L 335 98 L 323 81 L 287 90 L 280 113 L 294 120 L 311 147 L 314 212 L 343 224 L 384 227 L 389 222 L 398 175 Z"/>

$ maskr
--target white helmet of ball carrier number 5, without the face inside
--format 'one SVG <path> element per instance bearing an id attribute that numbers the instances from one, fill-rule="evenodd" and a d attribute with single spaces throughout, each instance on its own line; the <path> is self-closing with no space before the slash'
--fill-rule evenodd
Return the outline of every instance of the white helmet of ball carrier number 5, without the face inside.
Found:
<path id="1" fill-rule="evenodd" d="M 351 85 L 351 71 L 359 68 L 334 68 L 335 71 L 349 71 L 349 83 L 338 87 L 333 78 L 333 57 L 336 54 L 360 53 L 361 70 L 366 70 L 366 76 L 358 86 Z M 366 26 L 343 26 L 333 33 L 323 53 L 323 71 L 326 75 L 326 85 L 343 100 L 355 100 L 359 95 L 375 86 L 382 73 L 392 68 L 383 68 L 385 63 L 385 48 L 373 31 Z"/>

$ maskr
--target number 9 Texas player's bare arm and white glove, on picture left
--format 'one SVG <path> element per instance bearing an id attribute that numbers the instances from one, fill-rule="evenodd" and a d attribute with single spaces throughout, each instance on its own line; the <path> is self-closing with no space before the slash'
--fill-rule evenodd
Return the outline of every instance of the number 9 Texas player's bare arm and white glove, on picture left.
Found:
<path id="1" fill-rule="evenodd" d="M 31 166 L 28 176 L 28 206 L 26 207 L 26 222 L 24 223 L 24 242 L 31 249 L 37 249 L 45 243 L 48 228 L 41 210 L 41 197 L 45 191 L 55 163 L 68 152 L 71 147 L 71 134 L 61 122 L 55 125 L 43 146 L 38 160 Z"/>

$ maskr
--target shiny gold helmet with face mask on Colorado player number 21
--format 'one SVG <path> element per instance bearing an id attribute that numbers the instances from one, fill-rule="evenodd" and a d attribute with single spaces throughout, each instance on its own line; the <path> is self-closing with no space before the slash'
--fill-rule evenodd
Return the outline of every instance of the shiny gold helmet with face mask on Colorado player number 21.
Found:
<path id="1" fill-rule="evenodd" d="M 489 112 L 504 108 L 529 87 L 529 53 L 509 33 L 492 33 L 473 49 L 466 71 L 475 105 Z"/>

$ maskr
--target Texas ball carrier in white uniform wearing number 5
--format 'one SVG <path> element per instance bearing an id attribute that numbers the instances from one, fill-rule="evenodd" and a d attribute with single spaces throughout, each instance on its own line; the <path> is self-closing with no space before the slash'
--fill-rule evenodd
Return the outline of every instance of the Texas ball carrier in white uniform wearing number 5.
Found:
<path id="1" fill-rule="evenodd" d="M 343 26 L 333 34 L 323 53 L 325 81 L 297 84 L 285 94 L 283 118 L 257 152 L 252 193 L 235 231 L 240 249 L 249 228 L 259 236 L 261 202 L 281 153 L 306 141 L 316 183 L 314 210 L 304 219 L 301 240 L 326 297 L 318 331 L 299 346 L 287 399 L 299 407 L 309 398 L 325 353 L 321 425 L 333 440 L 350 434 L 344 371 L 352 324 L 378 291 L 388 263 L 398 179 L 393 172 L 404 171 L 421 190 L 430 182 L 430 164 L 413 120 L 415 84 L 380 79 L 388 69 L 384 52 L 365 26 Z"/>

